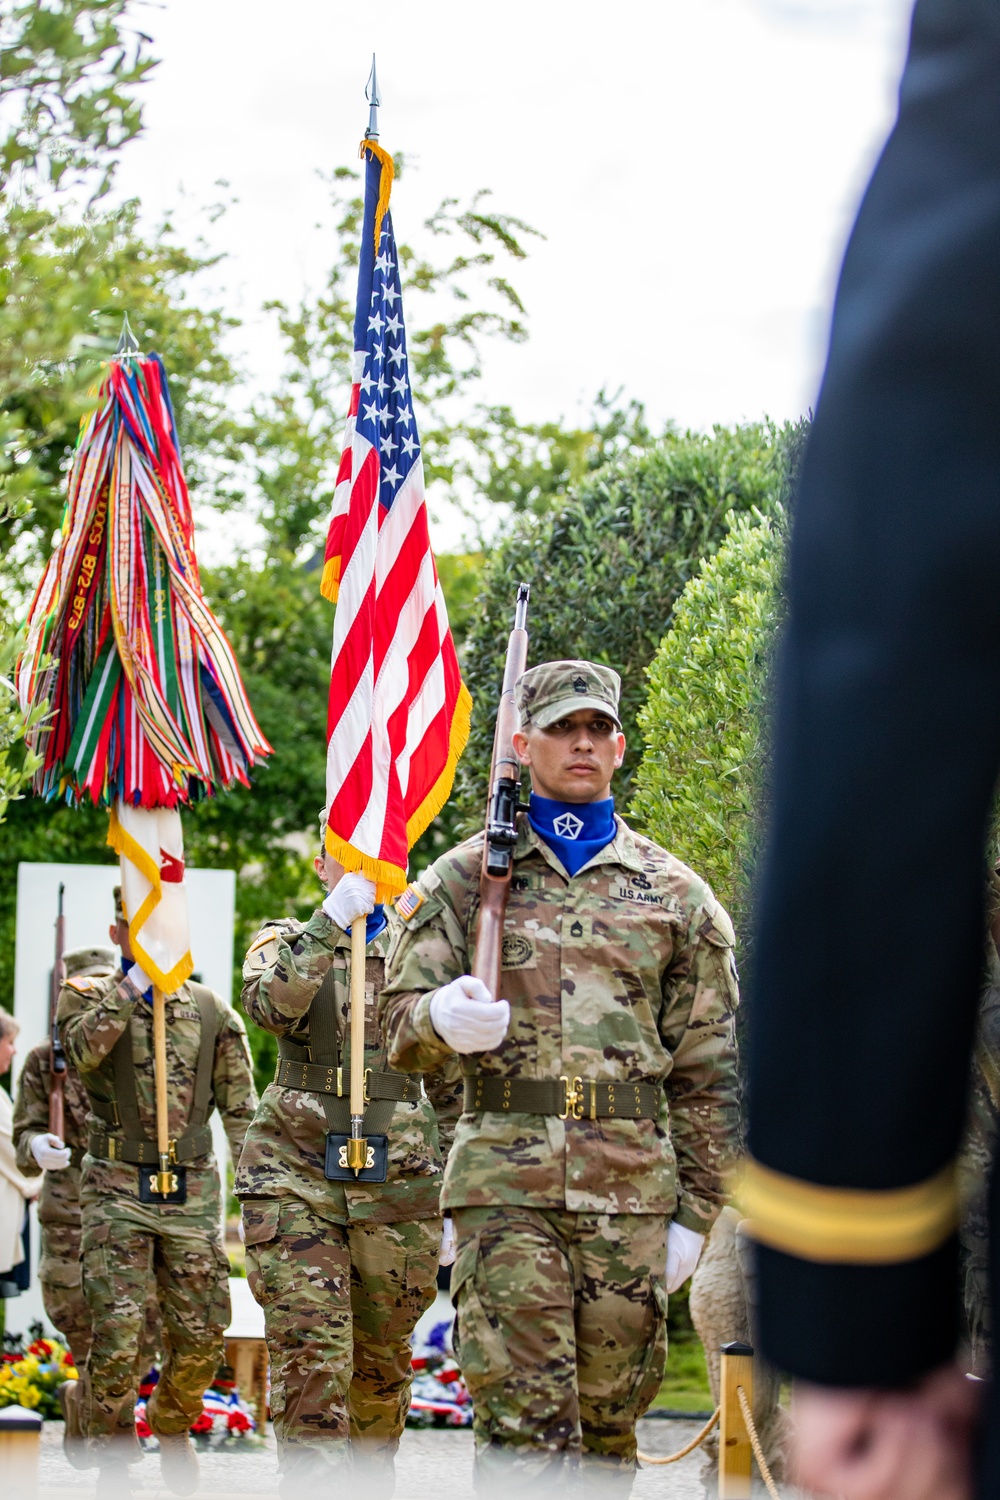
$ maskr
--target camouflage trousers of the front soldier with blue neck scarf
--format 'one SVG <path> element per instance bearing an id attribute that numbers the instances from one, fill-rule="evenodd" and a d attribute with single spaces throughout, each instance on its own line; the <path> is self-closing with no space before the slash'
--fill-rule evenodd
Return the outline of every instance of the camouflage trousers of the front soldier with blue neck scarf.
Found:
<path id="1" fill-rule="evenodd" d="M 541 1490 L 576 1470 L 627 1492 L 667 1353 L 666 1220 L 510 1204 L 453 1216 L 477 1488 Z"/>

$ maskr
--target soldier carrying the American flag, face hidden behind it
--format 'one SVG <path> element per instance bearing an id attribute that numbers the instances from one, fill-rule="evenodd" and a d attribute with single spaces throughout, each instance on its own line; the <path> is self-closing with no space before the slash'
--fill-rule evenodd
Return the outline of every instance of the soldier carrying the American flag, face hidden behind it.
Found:
<path id="1" fill-rule="evenodd" d="M 372 882 L 345 876 L 325 852 L 324 826 L 322 906 L 306 924 L 265 922 L 243 968 L 243 1005 L 279 1038 L 279 1062 L 247 1131 L 237 1194 L 271 1358 L 282 1494 L 351 1466 L 364 1467 L 367 1492 L 390 1494 L 409 1408 L 409 1336 L 436 1290 L 441 1136 L 460 1083 L 454 1065 L 423 1089 L 417 1074 L 387 1070 L 375 1011 L 384 916 Z M 369 912 L 366 1131 L 388 1134 L 384 1184 L 324 1174 L 327 1132 L 348 1130 L 351 920 Z"/>

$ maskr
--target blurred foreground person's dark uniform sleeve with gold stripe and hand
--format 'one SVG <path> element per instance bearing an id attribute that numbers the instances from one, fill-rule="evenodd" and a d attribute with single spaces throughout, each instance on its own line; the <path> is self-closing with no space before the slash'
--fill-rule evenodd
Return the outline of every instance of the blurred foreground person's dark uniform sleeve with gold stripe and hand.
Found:
<path id="1" fill-rule="evenodd" d="M 919 0 L 804 464 L 750 1016 L 762 1348 L 810 1383 L 804 1484 L 846 1500 L 973 1485 L 955 1158 L 1000 766 L 999 316 L 1000 0 Z"/>

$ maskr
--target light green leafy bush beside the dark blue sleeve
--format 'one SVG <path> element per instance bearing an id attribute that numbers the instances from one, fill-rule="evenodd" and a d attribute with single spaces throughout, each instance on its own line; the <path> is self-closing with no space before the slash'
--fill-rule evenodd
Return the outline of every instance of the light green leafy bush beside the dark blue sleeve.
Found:
<path id="1" fill-rule="evenodd" d="M 763 824 L 766 696 L 784 615 L 786 518 L 733 518 L 681 594 L 648 669 L 630 812 L 705 876 L 744 938 Z"/>

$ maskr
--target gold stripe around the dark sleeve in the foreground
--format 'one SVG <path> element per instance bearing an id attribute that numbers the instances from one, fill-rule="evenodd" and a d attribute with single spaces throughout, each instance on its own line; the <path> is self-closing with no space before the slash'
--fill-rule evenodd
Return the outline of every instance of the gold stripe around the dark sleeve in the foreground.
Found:
<path id="1" fill-rule="evenodd" d="M 910 1188 L 825 1188 L 744 1164 L 735 1202 L 747 1233 L 789 1256 L 847 1266 L 919 1260 L 958 1227 L 954 1162 Z"/>

